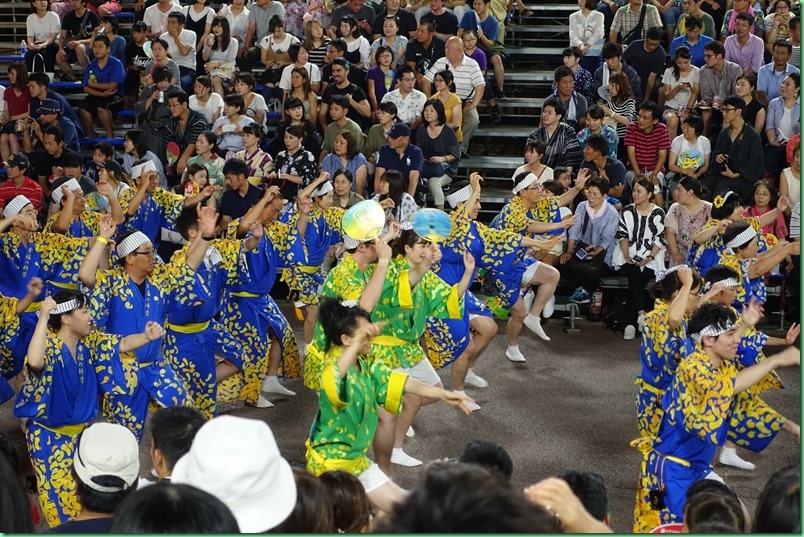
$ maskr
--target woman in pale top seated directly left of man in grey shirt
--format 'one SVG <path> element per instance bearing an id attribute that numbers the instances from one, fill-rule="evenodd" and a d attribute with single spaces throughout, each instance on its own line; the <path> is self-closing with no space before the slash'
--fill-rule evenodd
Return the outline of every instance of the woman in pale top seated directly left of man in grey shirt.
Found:
<path id="1" fill-rule="evenodd" d="M 664 120 L 668 135 L 678 134 L 683 118 L 692 112 L 698 102 L 701 89 L 698 82 L 698 68 L 691 64 L 692 55 L 687 47 L 679 47 L 673 55 L 673 66 L 668 67 L 662 77 L 662 90 L 659 103 L 664 104 Z"/>

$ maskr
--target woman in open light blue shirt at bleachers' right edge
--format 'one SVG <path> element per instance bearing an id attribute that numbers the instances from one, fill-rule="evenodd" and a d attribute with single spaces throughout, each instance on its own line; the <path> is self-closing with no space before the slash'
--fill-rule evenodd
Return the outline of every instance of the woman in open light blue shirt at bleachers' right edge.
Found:
<path id="1" fill-rule="evenodd" d="M 787 75 L 780 86 L 780 95 L 768 103 L 765 118 L 765 170 L 776 180 L 785 167 L 787 141 L 801 132 L 801 75 Z"/>

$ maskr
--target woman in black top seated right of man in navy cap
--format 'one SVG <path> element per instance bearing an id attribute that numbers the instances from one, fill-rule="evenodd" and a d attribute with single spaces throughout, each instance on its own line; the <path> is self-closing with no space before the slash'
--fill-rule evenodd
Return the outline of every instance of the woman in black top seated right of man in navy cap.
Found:
<path id="1" fill-rule="evenodd" d="M 424 157 L 421 178 L 430 187 L 435 207 L 444 210 L 444 187 L 458 173 L 461 145 L 455 131 L 446 125 L 444 103 L 430 99 L 424 105 L 423 114 L 424 125 L 416 131 L 416 145 Z"/>

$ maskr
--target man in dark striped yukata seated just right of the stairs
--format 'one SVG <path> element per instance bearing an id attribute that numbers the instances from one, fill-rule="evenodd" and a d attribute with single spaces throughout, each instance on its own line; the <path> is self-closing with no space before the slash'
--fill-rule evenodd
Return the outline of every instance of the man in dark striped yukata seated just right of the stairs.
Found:
<path id="1" fill-rule="evenodd" d="M 545 99 L 542 104 L 542 124 L 528 135 L 528 142 L 544 142 L 543 162 L 551 168 L 566 166 L 577 172 L 581 163 L 581 146 L 578 145 L 578 134 L 564 123 L 566 114 L 564 105 L 558 99 Z"/>

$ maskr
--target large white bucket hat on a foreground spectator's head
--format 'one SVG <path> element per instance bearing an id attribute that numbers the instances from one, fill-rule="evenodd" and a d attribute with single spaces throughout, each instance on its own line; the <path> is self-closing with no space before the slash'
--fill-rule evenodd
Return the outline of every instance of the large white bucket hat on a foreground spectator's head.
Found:
<path id="1" fill-rule="evenodd" d="M 238 464 L 221 465 L 220 453 Z M 173 468 L 172 482 L 217 496 L 243 533 L 275 528 L 296 505 L 290 464 L 279 453 L 270 427 L 259 420 L 220 416 L 205 423 Z"/>

